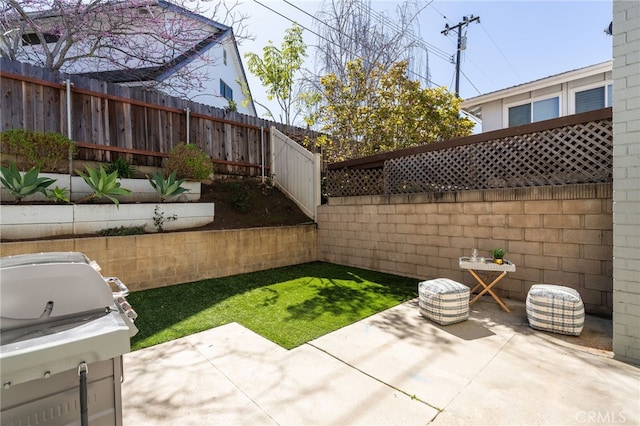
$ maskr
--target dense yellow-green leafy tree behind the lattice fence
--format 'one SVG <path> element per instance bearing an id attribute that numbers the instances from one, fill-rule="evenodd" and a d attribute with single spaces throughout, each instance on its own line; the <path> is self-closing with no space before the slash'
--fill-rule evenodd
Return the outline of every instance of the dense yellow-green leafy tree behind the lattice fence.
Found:
<path id="1" fill-rule="evenodd" d="M 406 76 L 406 62 L 389 71 L 367 71 L 349 62 L 346 78 L 321 79 L 321 145 L 331 162 L 468 136 L 473 122 L 461 118 L 461 100 L 445 88 L 421 88 Z"/>

